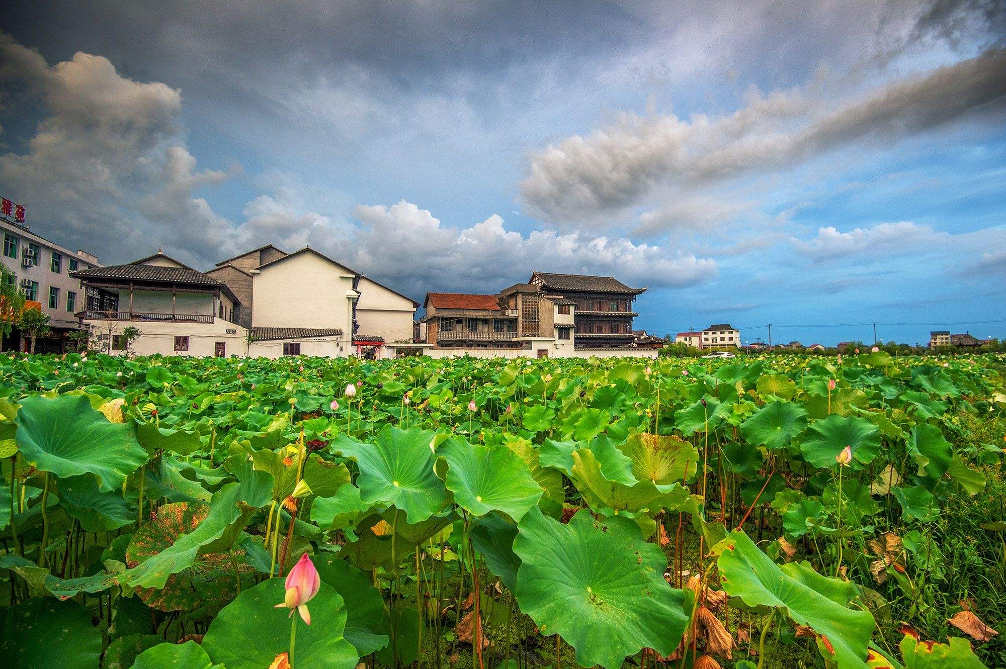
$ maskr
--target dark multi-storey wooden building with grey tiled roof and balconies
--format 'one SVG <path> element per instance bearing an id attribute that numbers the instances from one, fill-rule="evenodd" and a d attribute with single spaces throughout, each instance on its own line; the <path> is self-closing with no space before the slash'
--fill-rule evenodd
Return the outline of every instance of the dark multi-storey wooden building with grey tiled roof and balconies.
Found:
<path id="1" fill-rule="evenodd" d="M 534 272 L 528 281 L 545 294 L 561 295 L 575 307 L 576 348 L 620 349 L 633 346 L 632 319 L 636 296 L 646 288 L 631 288 L 613 276 Z"/>

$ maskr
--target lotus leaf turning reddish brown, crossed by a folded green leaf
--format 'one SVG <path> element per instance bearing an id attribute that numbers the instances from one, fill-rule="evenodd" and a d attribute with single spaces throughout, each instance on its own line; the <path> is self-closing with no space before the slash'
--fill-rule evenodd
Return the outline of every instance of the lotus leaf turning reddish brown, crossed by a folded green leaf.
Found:
<path id="1" fill-rule="evenodd" d="M 135 568 L 171 547 L 183 534 L 195 530 L 208 514 L 206 504 L 174 502 L 161 506 L 157 515 L 133 534 L 126 548 L 127 567 Z M 250 573 L 243 564 L 243 550 L 238 551 L 238 570 Z M 140 599 L 158 611 L 189 611 L 206 601 L 227 602 L 236 593 L 230 558 L 223 552 L 196 556 L 189 569 L 168 576 L 161 588 L 137 589 Z"/>

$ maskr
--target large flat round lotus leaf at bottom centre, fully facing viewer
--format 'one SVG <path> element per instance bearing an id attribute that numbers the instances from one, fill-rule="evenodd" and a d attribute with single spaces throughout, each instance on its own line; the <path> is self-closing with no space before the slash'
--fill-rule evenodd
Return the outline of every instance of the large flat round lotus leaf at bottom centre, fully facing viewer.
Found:
<path id="1" fill-rule="evenodd" d="M 565 639 L 581 666 L 617 669 L 643 648 L 670 655 L 681 641 L 685 595 L 664 581 L 667 558 L 633 520 L 582 509 L 562 524 L 535 508 L 513 548 L 520 610 Z"/>

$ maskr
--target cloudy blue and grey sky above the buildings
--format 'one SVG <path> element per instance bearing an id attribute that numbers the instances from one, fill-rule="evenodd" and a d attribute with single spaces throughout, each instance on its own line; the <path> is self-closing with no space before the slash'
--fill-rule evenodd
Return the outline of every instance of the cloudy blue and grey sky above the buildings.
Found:
<path id="1" fill-rule="evenodd" d="M 1006 337 L 1006 2 L 8 3 L 0 194 L 104 264 L 531 271 L 743 341 Z"/>

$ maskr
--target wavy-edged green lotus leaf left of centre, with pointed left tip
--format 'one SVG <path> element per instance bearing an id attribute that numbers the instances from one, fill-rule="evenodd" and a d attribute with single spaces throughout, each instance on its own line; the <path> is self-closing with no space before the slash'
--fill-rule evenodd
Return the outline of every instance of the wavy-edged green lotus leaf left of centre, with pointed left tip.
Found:
<path id="1" fill-rule="evenodd" d="M 408 521 L 426 520 L 447 502 L 444 482 L 434 472 L 432 432 L 399 430 L 390 424 L 377 442 L 364 444 L 345 435 L 332 443 L 332 451 L 356 461 L 356 484 L 364 504 L 388 502 L 405 512 Z"/>

